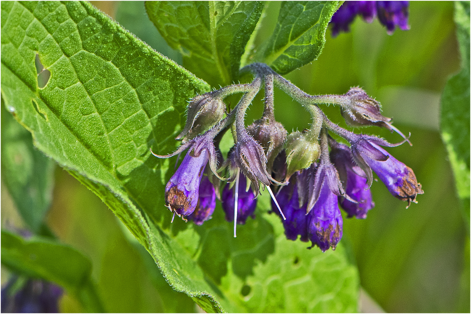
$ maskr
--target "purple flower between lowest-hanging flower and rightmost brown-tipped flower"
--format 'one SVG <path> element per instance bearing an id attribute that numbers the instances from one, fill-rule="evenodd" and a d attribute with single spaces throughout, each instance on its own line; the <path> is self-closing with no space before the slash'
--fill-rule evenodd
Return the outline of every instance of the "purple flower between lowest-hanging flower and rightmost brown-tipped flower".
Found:
<path id="1" fill-rule="evenodd" d="M 353 156 L 347 145 L 337 143 L 333 139 L 331 143 L 330 157 L 339 172 L 340 180 L 345 185 L 345 193 L 357 201 L 354 203 L 343 196 L 339 196 L 341 207 L 347 212 L 348 217 L 356 216 L 365 219 L 368 210 L 374 207 L 371 190 L 366 182 L 365 172 L 353 161 Z"/>

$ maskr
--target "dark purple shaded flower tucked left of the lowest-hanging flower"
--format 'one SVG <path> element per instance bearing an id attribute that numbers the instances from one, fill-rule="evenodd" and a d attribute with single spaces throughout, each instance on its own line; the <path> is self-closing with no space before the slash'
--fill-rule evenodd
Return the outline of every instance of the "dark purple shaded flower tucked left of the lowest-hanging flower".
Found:
<path id="1" fill-rule="evenodd" d="M 301 241 L 308 242 L 308 217 L 306 216 L 307 204 L 305 203 L 303 207 L 299 207 L 297 181 L 296 176 L 292 176 L 290 184 L 281 188 L 280 192 L 276 195 L 276 200 L 278 201 L 281 210 L 283 210 L 284 217 L 286 217 L 286 220 L 281 220 L 283 222 L 286 238 L 295 241 L 298 238 L 298 235 L 300 235 Z M 302 182 L 300 184 L 306 184 L 306 182 Z M 271 207 L 273 211 L 281 217 L 281 214 L 273 200 L 271 201 Z"/>

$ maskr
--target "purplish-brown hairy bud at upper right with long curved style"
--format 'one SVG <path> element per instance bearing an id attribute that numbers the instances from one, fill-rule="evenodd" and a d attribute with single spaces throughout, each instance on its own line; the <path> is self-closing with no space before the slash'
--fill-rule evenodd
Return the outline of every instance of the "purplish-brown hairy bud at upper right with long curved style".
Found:
<path id="1" fill-rule="evenodd" d="M 390 118 L 381 114 L 381 105 L 369 97 L 363 89 L 352 87 L 345 95 L 348 105 L 342 105 L 342 116 L 352 127 L 377 125 L 390 129 Z"/>

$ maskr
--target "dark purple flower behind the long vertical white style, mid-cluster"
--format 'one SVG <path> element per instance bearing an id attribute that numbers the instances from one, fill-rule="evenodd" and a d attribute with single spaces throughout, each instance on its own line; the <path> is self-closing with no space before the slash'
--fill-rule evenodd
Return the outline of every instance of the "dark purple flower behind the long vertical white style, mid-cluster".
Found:
<path id="1" fill-rule="evenodd" d="M 234 204 L 235 204 L 235 185 L 229 188 L 230 184 L 227 183 L 222 190 L 221 201 L 222 209 L 226 213 L 227 221 L 234 221 Z M 247 191 L 247 179 L 240 173 L 239 177 L 239 195 L 237 201 L 237 223 L 244 225 L 249 216 L 255 217 L 255 207 L 257 206 L 257 199 L 252 187 Z"/>

